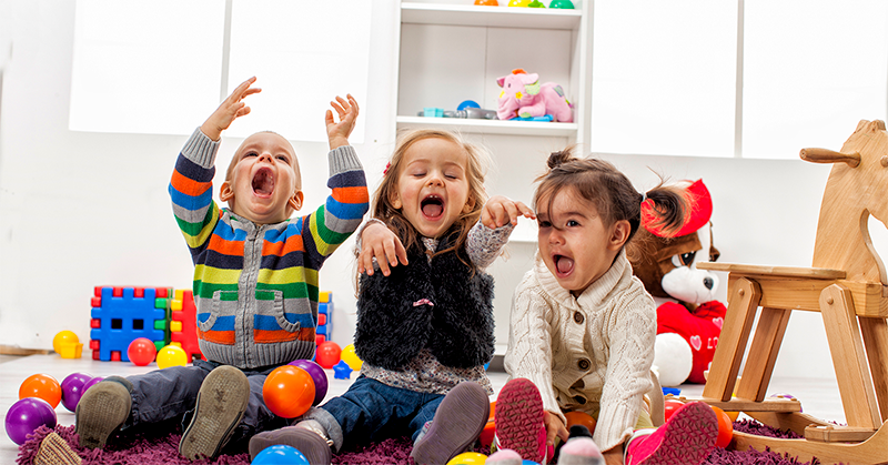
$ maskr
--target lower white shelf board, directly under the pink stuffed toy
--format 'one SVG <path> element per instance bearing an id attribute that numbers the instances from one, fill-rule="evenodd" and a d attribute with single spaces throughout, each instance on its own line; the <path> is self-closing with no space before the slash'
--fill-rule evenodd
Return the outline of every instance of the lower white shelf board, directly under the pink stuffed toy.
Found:
<path id="1" fill-rule="evenodd" d="M 493 7 L 491 7 L 493 8 Z M 397 117 L 397 129 L 444 128 L 472 134 L 576 137 L 576 123 Z"/>

